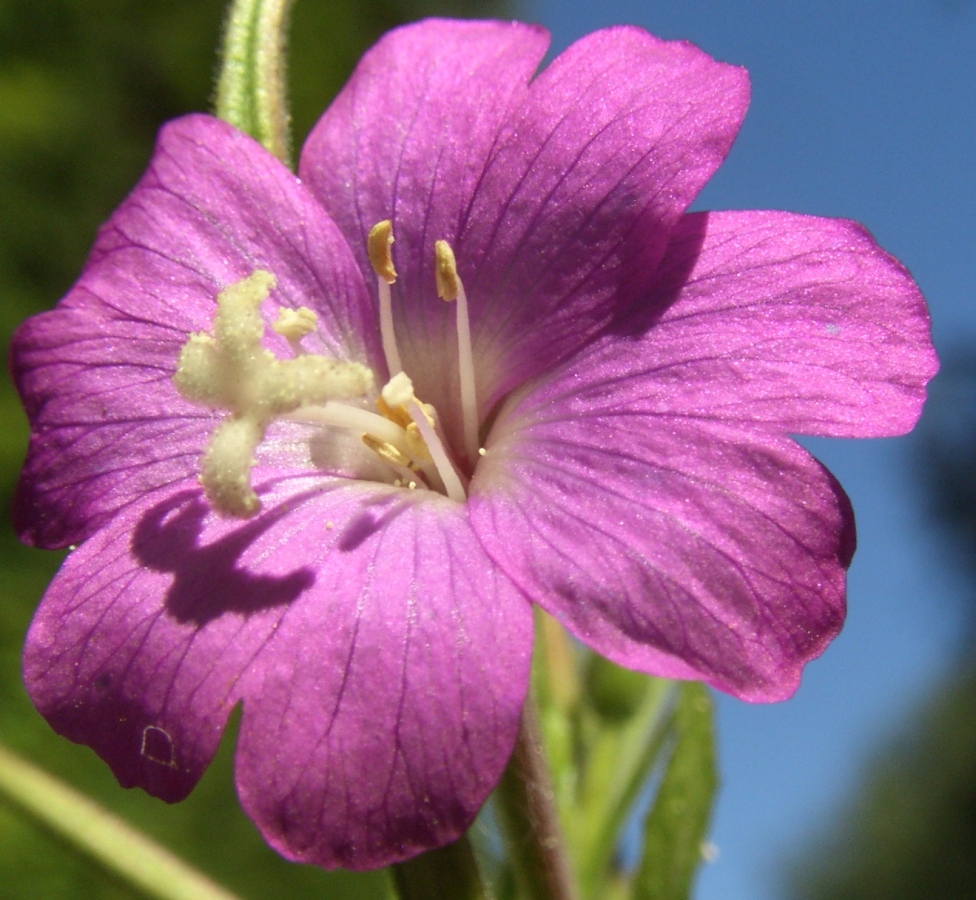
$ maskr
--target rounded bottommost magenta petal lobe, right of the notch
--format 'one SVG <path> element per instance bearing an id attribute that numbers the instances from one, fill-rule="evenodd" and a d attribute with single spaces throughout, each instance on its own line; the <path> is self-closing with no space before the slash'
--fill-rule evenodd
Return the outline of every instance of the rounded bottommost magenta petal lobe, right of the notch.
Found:
<path id="1" fill-rule="evenodd" d="M 360 869 L 471 823 L 514 745 L 532 619 L 463 507 L 391 491 L 352 509 L 334 531 L 298 513 L 317 602 L 252 668 L 238 785 L 280 852 Z"/>

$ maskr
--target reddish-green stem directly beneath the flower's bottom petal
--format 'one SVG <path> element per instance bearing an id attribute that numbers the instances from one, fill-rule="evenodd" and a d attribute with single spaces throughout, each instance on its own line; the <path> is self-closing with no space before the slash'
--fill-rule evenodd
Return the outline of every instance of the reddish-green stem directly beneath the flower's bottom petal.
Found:
<path id="1" fill-rule="evenodd" d="M 520 895 L 526 900 L 577 900 L 531 691 L 495 797 Z"/>

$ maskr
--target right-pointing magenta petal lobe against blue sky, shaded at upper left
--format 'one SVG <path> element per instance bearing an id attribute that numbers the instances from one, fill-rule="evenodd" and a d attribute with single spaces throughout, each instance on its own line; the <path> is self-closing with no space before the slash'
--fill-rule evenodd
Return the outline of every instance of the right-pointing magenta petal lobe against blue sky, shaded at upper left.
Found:
<path id="1" fill-rule="evenodd" d="M 689 215 L 659 279 L 611 335 L 551 376 L 544 390 L 564 412 L 832 437 L 903 434 L 918 419 L 938 368 L 925 301 L 856 223 Z"/>

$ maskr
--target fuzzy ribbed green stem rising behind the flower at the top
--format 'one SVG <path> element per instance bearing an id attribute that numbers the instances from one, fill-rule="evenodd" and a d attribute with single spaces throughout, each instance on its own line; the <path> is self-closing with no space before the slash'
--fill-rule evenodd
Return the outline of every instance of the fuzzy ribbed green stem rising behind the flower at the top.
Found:
<path id="1" fill-rule="evenodd" d="M 224 25 L 215 112 L 285 163 L 291 153 L 285 38 L 292 0 L 233 0 Z"/>

